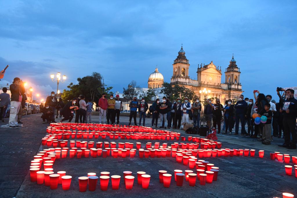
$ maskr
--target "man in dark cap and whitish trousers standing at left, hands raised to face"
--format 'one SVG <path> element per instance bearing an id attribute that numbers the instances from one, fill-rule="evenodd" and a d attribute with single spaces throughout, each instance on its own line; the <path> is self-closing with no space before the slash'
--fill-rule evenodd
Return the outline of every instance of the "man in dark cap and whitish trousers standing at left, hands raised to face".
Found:
<path id="1" fill-rule="evenodd" d="M 10 117 L 9 117 L 9 128 L 19 128 L 18 125 L 18 111 L 20 110 L 22 102 L 22 94 L 20 91 L 20 84 L 23 81 L 16 77 L 13 79 L 12 84 L 9 86 L 11 98 L 10 98 Z"/>

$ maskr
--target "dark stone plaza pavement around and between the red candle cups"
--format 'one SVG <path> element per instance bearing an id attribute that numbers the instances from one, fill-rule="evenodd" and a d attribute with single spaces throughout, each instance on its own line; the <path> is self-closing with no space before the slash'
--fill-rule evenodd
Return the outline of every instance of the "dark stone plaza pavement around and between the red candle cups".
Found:
<path id="1" fill-rule="evenodd" d="M 97 117 L 93 121 L 97 121 Z M 270 160 L 269 153 L 279 151 L 291 156 L 297 155 L 296 150 L 288 150 L 278 147 L 283 139 L 274 139 L 271 145 L 263 145 L 254 139 L 242 136 L 218 135 L 222 148 L 242 148 L 265 150 L 264 158 L 252 157 L 221 157 L 206 158 L 215 166 L 220 168 L 218 181 L 206 186 L 200 186 L 196 182 L 195 187 L 189 187 L 184 182 L 182 187 L 177 187 L 171 182 L 170 188 L 164 188 L 158 181 L 158 170 L 167 170 L 172 173 L 174 169 L 187 170 L 175 161 L 175 158 L 65 158 L 58 159 L 55 163 L 55 170 L 64 170 L 72 176 L 72 185 L 69 191 L 63 191 L 61 186 L 56 190 L 50 190 L 44 185 L 37 185 L 30 182 L 29 166 L 33 156 L 38 150 L 47 147 L 41 145 L 41 138 L 46 134 L 47 125 L 41 123 L 40 114 L 28 115 L 23 118 L 24 127 L 19 129 L 0 128 L 1 134 L 1 180 L 0 197 L 281 197 L 282 192 L 290 192 L 297 195 L 297 178 L 286 176 L 283 163 Z M 121 124 L 127 124 L 128 118 L 121 117 Z M 150 125 L 150 118 L 146 123 Z M 183 131 L 175 130 L 184 134 Z M 12 134 L 12 135 L 10 135 Z M 198 136 L 198 135 L 194 135 Z M 91 141 L 97 141 L 92 139 Z M 100 140 L 101 141 L 101 140 Z M 111 141 L 107 139 L 106 141 Z M 135 140 L 112 140 L 114 142 L 133 142 Z M 142 146 L 144 141 L 139 141 Z M 156 142 L 150 140 L 149 142 Z M 176 142 L 158 140 L 157 142 Z M 187 141 L 186 141 L 187 142 Z M 257 152 L 256 152 L 257 156 Z M 291 164 L 292 165 L 292 164 Z M 112 175 L 122 175 L 122 172 L 129 170 L 133 175 L 137 171 L 145 171 L 151 175 L 149 189 L 142 189 L 134 182 L 132 190 L 126 190 L 121 178 L 120 188 L 117 191 L 111 189 L 101 191 L 99 186 L 95 192 L 78 191 L 78 177 L 88 172 L 108 171 Z M 294 173 L 294 172 L 293 172 Z M 135 177 L 136 179 L 137 177 Z M 110 181 L 111 182 L 111 181 Z"/>

